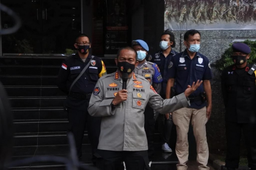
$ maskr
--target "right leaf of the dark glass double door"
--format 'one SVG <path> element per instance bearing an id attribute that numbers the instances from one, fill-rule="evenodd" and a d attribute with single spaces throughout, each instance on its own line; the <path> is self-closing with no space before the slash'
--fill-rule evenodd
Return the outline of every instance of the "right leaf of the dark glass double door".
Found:
<path id="1" fill-rule="evenodd" d="M 68 55 L 81 33 L 81 0 L 42 0 L 44 55 Z"/>

